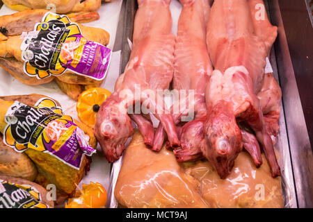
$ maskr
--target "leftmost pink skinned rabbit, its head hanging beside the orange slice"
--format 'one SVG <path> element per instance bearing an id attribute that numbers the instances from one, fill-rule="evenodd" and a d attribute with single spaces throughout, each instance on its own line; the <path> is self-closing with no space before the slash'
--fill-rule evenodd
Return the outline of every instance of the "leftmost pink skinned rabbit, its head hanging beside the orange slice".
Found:
<path id="1" fill-rule="evenodd" d="M 172 35 L 170 1 L 141 0 L 134 22 L 133 49 L 129 62 L 115 83 L 115 92 L 104 101 L 97 114 L 95 135 L 109 162 L 118 160 L 136 121 L 147 146 L 153 145 L 152 123 L 141 113 L 130 114 L 134 103 L 149 104 L 150 113 L 161 121 L 171 146 L 178 146 L 176 126 L 157 89 L 168 89 L 173 75 L 175 36 Z M 136 87 L 141 95 L 135 98 Z M 145 93 L 143 93 L 145 92 Z M 128 107 L 128 108 L 127 108 Z M 136 111 L 136 110 L 135 110 Z M 168 114 L 166 114 L 168 113 Z"/>

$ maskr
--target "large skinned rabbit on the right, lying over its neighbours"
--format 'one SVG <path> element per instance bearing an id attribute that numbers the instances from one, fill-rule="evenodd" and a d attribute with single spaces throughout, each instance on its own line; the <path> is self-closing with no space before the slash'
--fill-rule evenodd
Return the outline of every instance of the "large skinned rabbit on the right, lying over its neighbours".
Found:
<path id="1" fill-rule="evenodd" d="M 230 173 L 245 142 L 237 122 L 252 129 L 272 176 L 280 176 L 273 142 L 257 98 L 264 82 L 266 56 L 277 28 L 271 26 L 267 17 L 257 20 L 255 3 L 262 1 L 214 1 L 207 27 L 207 46 L 215 70 L 206 89 L 208 116 L 204 122 L 202 153 L 221 178 Z M 255 147 L 255 151 L 258 149 Z M 260 152 L 257 153 L 253 155 Z"/>

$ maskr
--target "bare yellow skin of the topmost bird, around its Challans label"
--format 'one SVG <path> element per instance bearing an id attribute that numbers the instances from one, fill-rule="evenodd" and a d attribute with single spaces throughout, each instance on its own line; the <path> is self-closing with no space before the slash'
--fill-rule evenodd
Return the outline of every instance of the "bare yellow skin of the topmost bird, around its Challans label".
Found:
<path id="1" fill-rule="evenodd" d="M 33 31 L 35 24 L 41 21 L 45 12 L 47 10 L 26 10 L 0 17 L 0 31 L 2 32 L 0 35 L 0 67 L 3 67 L 8 73 L 27 85 L 41 85 L 58 78 L 56 83 L 63 92 L 70 98 L 77 100 L 80 92 L 88 88 L 88 85 L 90 87 L 99 86 L 102 81 L 74 74 L 71 71 L 65 71 L 61 76 L 49 76 L 42 79 L 24 73 L 24 61 L 20 49 L 23 39 L 20 35 L 22 32 Z M 86 40 L 98 42 L 102 45 L 109 44 L 110 35 L 102 28 L 78 25 Z M 87 87 L 83 85 L 87 85 Z"/>

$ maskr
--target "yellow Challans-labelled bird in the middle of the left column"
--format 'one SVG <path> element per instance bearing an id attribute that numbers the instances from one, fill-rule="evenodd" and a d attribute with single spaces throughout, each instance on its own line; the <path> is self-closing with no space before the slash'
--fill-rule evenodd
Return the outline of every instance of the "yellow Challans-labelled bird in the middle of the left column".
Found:
<path id="1" fill-rule="evenodd" d="M 52 184 L 62 203 L 89 170 L 97 145 L 93 130 L 47 96 L 1 96 L 0 103 L 0 175 Z"/>

